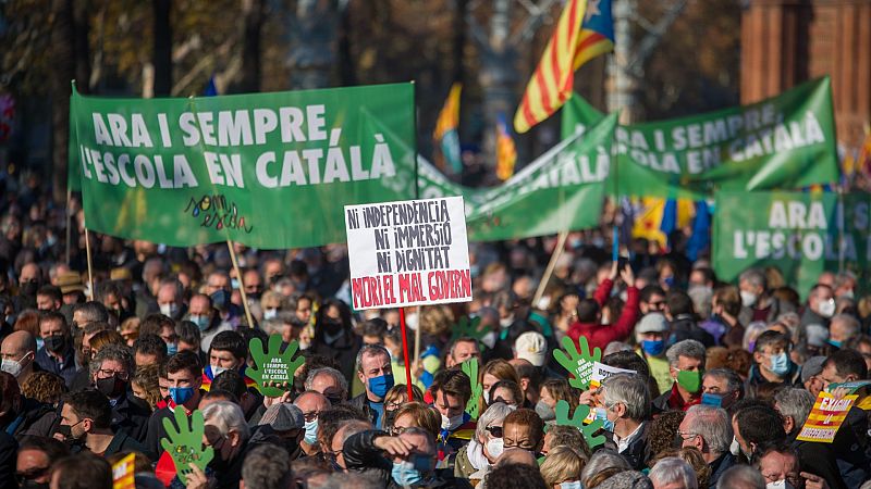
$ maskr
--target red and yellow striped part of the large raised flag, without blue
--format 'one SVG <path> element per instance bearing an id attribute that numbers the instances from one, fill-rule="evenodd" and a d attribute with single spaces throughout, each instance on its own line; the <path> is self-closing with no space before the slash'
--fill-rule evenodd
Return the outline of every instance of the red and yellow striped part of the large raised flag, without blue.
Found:
<path id="1" fill-rule="evenodd" d="M 550 117 L 572 97 L 575 57 L 586 8 L 587 0 L 566 2 L 514 115 L 514 130 L 517 133 L 526 133 Z"/>

